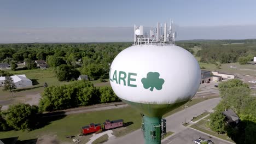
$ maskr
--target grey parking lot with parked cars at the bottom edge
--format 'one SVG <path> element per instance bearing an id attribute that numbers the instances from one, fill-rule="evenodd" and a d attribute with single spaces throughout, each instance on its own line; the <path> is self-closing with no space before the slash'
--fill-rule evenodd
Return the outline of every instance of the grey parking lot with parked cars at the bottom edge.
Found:
<path id="1" fill-rule="evenodd" d="M 214 142 L 215 144 L 224 144 L 224 143 L 228 143 L 216 138 L 213 138 L 211 136 L 205 135 L 200 133 L 199 131 L 196 131 L 194 129 L 185 129 L 183 130 L 181 133 L 178 133 L 174 136 L 169 137 L 168 139 L 162 141 L 162 144 L 184 144 L 184 143 L 194 143 L 194 140 L 199 139 L 199 137 L 203 137 L 206 140 L 211 140 L 212 142 Z"/>

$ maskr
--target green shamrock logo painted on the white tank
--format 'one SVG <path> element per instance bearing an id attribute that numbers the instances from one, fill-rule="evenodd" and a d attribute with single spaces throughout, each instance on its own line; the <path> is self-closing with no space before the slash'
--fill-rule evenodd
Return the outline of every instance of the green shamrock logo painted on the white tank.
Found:
<path id="1" fill-rule="evenodd" d="M 149 72 L 147 74 L 147 78 L 142 78 L 141 82 L 143 83 L 143 87 L 145 89 L 150 88 L 150 91 L 153 91 L 154 88 L 161 90 L 162 85 L 164 85 L 165 80 L 159 79 L 160 74 L 157 72 Z"/>

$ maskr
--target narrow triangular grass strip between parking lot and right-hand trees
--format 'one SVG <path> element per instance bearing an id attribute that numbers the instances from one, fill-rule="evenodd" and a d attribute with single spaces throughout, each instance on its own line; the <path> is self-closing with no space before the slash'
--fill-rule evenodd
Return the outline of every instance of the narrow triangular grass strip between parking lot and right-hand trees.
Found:
<path id="1" fill-rule="evenodd" d="M 207 134 L 219 137 L 220 139 L 227 140 L 227 141 L 230 141 L 230 142 L 234 142 L 227 135 L 225 135 L 225 134 L 216 134 L 214 131 L 210 130 L 210 128 L 208 128 L 208 121 L 205 121 L 204 119 L 197 122 L 196 124 L 191 125 L 190 127 L 194 128 L 194 129 L 197 129 L 197 130 L 200 130 L 203 133 L 207 133 Z"/>

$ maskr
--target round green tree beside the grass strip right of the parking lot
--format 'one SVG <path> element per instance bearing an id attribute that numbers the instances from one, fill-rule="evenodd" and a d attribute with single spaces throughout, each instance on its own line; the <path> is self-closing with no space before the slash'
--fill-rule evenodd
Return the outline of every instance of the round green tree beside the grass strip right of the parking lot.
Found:
<path id="1" fill-rule="evenodd" d="M 225 132 L 225 116 L 220 111 L 215 111 L 210 115 L 210 128 L 218 134 Z"/>

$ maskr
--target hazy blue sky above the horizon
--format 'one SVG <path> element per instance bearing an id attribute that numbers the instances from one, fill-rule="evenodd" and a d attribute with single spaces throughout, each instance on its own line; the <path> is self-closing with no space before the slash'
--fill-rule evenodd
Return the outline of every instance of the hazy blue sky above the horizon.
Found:
<path id="1" fill-rule="evenodd" d="M 63 38 L 63 33 L 65 33 L 65 31 L 67 31 L 67 33 L 71 32 L 72 37 L 76 37 L 72 28 L 78 32 L 78 38 L 75 39 L 79 41 L 80 37 L 83 37 L 83 34 L 79 33 L 78 29 L 93 29 L 94 27 L 104 27 L 107 29 L 108 27 L 114 27 L 117 30 L 120 27 L 132 27 L 134 24 L 151 27 L 155 26 L 156 21 L 168 22 L 170 18 L 174 20 L 174 23 L 179 29 L 183 29 L 182 31 L 188 27 L 196 28 L 197 31 L 204 32 L 207 31 L 207 27 L 209 30 L 218 27 L 223 29 L 223 27 L 225 27 L 226 32 L 230 31 L 230 39 L 256 38 L 256 34 L 253 35 L 249 33 L 245 34 L 244 37 L 242 37 L 243 35 L 234 37 L 232 33 L 234 26 L 240 27 L 239 29 L 241 29 L 242 26 L 246 28 L 248 32 L 250 32 L 248 26 L 252 28 L 252 30 L 256 28 L 255 5 L 256 1 L 231 0 L 0 0 L 0 43 L 15 43 L 15 41 L 17 43 L 19 41 L 20 43 L 22 40 L 26 43 L 29 41 L 33 42 L 33 40 L 48 42 L 49 40 L 46 40 L 46 37 L 53 35 L 55 35 L 55 39 L 60 40 L 56 42 L 68 42 L 68 34 L 65 34 L 65 38 Z M 229 26 L 233 28 L 230 29 Z M 203 30 L 200 30 L 200 27 L 203 28 Z M 120 31 L 122 29 L 123 28 L 120 28 Z M 230 30 L 228 31 L 228 29 Z M 48 31 L 48 35 L 42 34 L 44 30 Z M 63 32 L 60 33 L 60 31 Z M 59 36 L 56 34 L 58 32 Z M 94 33 L 94 31 L 90 32 Z M 107 29 L 106 32 L 109 32 L 109 29 Z M 30 35 L 30 37 L 24 37 L 22 33 L 26 33 Z M 207 34 L 210 33 L 206 33 L 206 36 Z M 33 35 L 33 37 L 31 35 Z M 14 36 L 15 39 L 13 38 Z M 100 35 L 98 36 L 99 41 L 115 41 L 114 37 L 109 40 L 107 38 L 101 40 Z M 215 37 L 214 35 L 208 36 L 208 39 L 218 39 L 217 35 Z M 90 37 L 90 33 L 87 32 L 85 37 Z M 202 37 L 205 38 L 205 36 Z M 191 36 L 188 39 L 195 38 Z M 62 41 L 63 39 L 65 39 L 65 41 Z M 84 42 L 97 41 L 97 39 L 85 39 L 87 41 Z M 132 37 L 131 39 L 125 39 L 126 37 L 121 41 L 130 41 Z M 181 37 L 180 39 L 184 38 Z M 207 39 L 207 37 L 205 39 Z M 229 39 L 229 35 L 227 35 L 226 39 Z M 83 39 L 80 40 L 83 42 Z M 72 42 L 72 40 L 70 42 Z"/>

